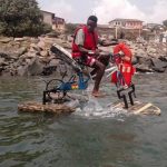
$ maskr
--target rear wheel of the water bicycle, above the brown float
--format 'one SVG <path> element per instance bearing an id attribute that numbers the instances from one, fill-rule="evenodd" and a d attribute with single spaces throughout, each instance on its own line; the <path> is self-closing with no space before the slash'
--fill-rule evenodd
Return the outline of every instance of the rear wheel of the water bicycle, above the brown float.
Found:
<path id="1" fill-rule="evenodd" d="M 60 102 L 65 98 L 66 91 L 59 89 L 62 84 L 60 79 L 52 79 L 47 84 L 46 91 L 48 91 L 49 101 Z"/>

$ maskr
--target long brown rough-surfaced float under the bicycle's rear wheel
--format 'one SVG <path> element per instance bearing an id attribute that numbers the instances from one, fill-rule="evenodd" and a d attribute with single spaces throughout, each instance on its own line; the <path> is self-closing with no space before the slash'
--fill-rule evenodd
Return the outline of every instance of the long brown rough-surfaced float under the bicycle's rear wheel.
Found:
<path id="1" fill-rule="evenodd" d="M 23 112 L 50 112 L 61 115 L 73 112 L 75 108 L 68 107 L 63 104 L 42 105 L 41 102 L 27 101 L 18 105 L 18 110 Z"/>

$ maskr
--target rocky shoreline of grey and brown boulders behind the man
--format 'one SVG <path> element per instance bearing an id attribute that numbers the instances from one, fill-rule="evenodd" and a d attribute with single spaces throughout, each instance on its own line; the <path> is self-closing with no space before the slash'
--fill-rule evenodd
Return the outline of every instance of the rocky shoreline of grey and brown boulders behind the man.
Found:
<path id="1" fill-rule="evenodd" d="M 72 38 L 59 37 L 7 38 L 0 37 L 0 76 L 51 75 L 59 66 L 59 59 L 50 52 L 52 43 L 71 50 Z M 128 41 L 134 62 L 139 72 L 167 71 L 167 43 L 153 41 Z M 102 48 L 111 51 L 111 47 Z"/>

